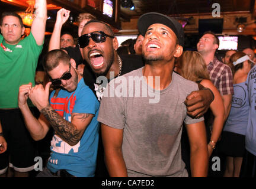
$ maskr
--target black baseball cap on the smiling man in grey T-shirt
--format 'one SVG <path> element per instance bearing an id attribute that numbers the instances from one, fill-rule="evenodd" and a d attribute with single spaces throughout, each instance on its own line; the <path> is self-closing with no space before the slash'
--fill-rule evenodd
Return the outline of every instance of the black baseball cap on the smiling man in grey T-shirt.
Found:
<path id="1" fill-rule="evenodd" d="M 164 24 L 175 33 L 178 38 L 178 43 L 184 47 L 184 30 L 180 22 L 176 19 L 158 12 L 148 12 L 140 16 L 137 22 L 137 27 L 143 36 L 145 36 L 148 27 L 152 24 Z"/>

